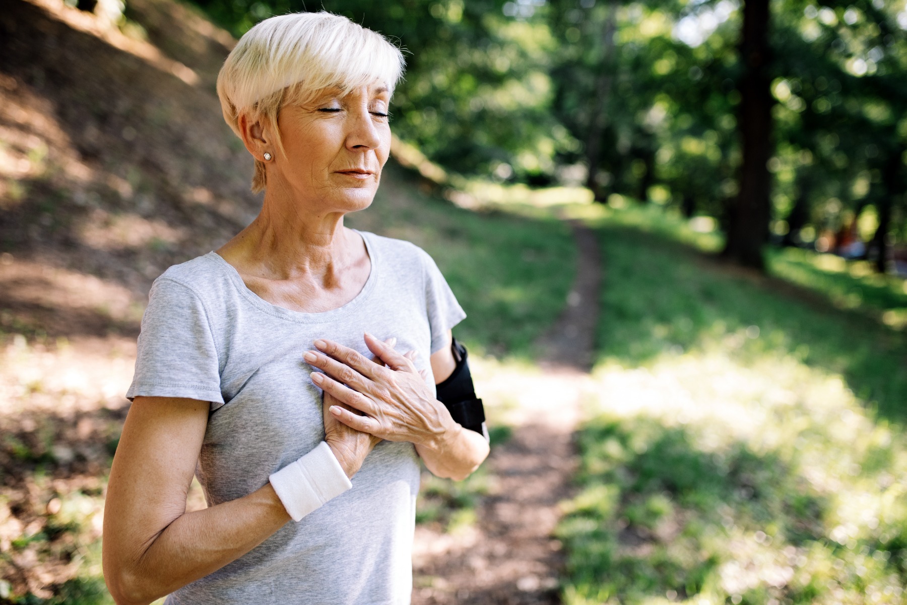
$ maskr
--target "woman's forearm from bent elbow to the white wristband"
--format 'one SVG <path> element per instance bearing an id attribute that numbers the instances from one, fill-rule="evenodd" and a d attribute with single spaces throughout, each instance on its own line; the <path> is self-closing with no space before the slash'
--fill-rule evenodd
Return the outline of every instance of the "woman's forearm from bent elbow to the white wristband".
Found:
<path id="1" fill-rule="evenodd" d="M 150 544 L 137 544 L 112 565 L 105 561 L 107 581 L 120 605 L 150 603 L 239 559 L 289 520 L 268 483 L 237 500 L 181 514 Z"/>

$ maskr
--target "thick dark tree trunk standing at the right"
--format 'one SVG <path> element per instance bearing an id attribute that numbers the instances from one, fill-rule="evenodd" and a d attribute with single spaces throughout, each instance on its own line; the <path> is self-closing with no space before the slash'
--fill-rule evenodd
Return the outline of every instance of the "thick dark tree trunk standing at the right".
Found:
<path id="1" fill-rule="evenodd" d="M 746 267 L 765 268 L 762 255 L 770 218 L 772 93 L 768 73 L 768 0 L 746 0 L 740 60 L 738 132 L 743 146 L 740 193 L 733 208 L 724 256 Z"/>

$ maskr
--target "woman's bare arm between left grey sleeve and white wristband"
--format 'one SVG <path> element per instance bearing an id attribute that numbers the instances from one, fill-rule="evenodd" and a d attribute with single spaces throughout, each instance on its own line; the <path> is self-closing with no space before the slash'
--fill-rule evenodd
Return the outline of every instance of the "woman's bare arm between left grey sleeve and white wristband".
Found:
<path id="1" fill-rule="evenodd" d="M 208 409 L 195 399 L 136 397 L 126 417 L 103 528 L 104 579 L 120 605 L 150 603 L 219 570 L 290 520 L 270 483 L 186 512 Z M 348 476 L 356 473 L 361 459 L 344 459 L 333 445 L 332 451 Z"/>

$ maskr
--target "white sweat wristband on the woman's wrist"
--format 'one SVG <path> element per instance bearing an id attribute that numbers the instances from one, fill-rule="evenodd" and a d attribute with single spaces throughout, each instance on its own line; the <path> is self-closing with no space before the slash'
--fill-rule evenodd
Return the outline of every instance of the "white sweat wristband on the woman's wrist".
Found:
<path id="1" fill-rule="evenodd" d="M 293 521 L 353 487 L 327 442 L 270 477 L 271 487 Z"/>

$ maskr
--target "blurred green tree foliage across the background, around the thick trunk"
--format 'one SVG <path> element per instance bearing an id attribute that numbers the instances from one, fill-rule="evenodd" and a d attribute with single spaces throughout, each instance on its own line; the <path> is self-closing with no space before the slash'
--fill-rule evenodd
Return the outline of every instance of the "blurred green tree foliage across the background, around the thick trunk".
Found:
<path id="1" fill-rule="evenodd" d="M 234 34 L 306 9 L 194 1 Z M 445 168 L 579 183 L 591 161 L 600 200 L 651 200 L 727 229 L 743 161 L 740 6 L 331 0 L 309 9 L 347 15 L 407 49 L 393 127 Z M 874 211 L 903 241 L 907 11 L 879 0 L 782 0 L 772 11 L 775 238 L 812 246 Z"/>

